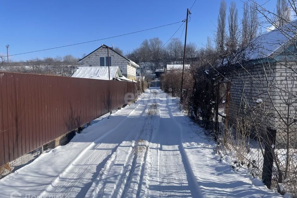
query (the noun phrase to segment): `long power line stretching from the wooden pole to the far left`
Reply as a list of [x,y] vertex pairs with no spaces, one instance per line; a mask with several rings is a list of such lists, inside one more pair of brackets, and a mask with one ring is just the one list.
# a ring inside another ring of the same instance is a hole
[[115,38],[115,37],[122,37],[122,36],[125,36],[125,35],[135,34],[135,33],[138,33],[138,32],[144,32],[144,31],[147,31],[147,30],[161,28],[161,27],[165,27],[165,26],[169,26],[169,25],[173,25],[173,24],[177,24],[177,23],[181,23],[181,22],[184,22],[184,21],[179,21],[179,22],[175,22],[175,23],[172,23],[172,24],[161,25],[161,26],[158,26],[158,27],[144,29],[144,30],[140,30],[140,31],[136,31],[136,32],[130,32],[130,33],[126,33],[126,34],[121,34],[121,35],[117,35],[117,36],[113,36],[113,37],[106,37],[106,38],[101,38],[101,39],[97,39],[97,40],[93,40],[93,41],[86,41],[86,42],[75,43],[75,44],[71,44],[71,45],[63,45],[63,46],[59,46],[59,47],[53,47],[53,48],[48,48],[48,49],[41,49],[41,50],[36,50],[36,51],[31,51],[31,52],[24,52],[24,53],[19,53],[19,54],[12,54],[12,55],[9,55],[9,56],[15,56],[15,55],[20,55],[20,54],[29,54],[29,53],[34,53],[34,52],[46,51],[46,50],[50,50],[50,49],[58,49],[58,48],[62,48],[62,47],[69,47],[69,46],[73,46],[73,45],[80,45],[80,44],[90,43],[90,42],[95,42],[95,41],[102,41],[102,40],[105,40],[105,39],[110,39],[110,38]]

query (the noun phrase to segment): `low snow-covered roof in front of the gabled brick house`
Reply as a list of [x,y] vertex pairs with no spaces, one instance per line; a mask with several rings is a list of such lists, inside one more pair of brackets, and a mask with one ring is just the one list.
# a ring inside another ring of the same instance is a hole
[[99,80],[120,80],[132,81],[122,75],[119,67],[109,67],[110,78],[108,78],[108,67],[78,67],[72,77],[75,78],[90,78]]

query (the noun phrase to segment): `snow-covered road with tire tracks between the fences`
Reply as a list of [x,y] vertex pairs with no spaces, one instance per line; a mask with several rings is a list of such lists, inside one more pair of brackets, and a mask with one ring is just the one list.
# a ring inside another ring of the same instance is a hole
[[69,144],[1,179],[0,197],[278,196],[244,168],[234,172],[219,161],[213,146],[176,99],[150,88]]

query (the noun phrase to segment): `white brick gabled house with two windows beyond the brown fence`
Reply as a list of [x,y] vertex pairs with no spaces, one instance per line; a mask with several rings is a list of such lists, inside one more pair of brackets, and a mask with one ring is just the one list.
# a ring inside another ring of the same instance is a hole
[[[107,45],[100,46],[78,62],[84,67],[108,67],[107,47]],[[136,80],[136,68],[139,66],[111,48],[109,48],[109,66],[119,67],[125,77]]]

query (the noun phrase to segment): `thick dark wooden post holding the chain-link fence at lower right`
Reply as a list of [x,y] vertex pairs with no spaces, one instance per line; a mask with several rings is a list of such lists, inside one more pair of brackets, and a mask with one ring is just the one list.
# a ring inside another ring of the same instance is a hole
[[273,171],[273,152],[275,148],[276,129],[267,128],[267,141],[265,142],[265,152],[262,170],[262,181],[270,189]]

